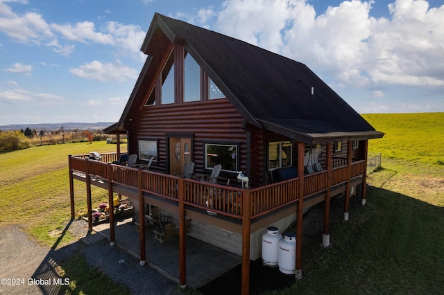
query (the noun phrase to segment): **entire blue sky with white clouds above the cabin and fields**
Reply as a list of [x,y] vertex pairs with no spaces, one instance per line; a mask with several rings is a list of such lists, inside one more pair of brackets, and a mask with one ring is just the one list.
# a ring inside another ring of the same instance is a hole
[[119,120],[155,12],[307,64],[361,114],[444,111],[442,0],[0,0],[0,125]]

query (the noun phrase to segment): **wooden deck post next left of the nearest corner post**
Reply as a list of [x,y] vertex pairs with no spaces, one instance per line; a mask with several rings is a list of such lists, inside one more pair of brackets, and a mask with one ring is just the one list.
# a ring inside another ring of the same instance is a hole
[[187,231],[185,229],[185,185],[182,177],[179,178],[179,267],[180,267],[180,287],[187,287]]

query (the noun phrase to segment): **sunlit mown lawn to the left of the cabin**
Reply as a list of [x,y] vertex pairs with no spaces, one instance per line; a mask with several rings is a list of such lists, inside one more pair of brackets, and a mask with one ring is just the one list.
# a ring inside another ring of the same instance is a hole
[[[68,155],[116,152],[105,141],[43,145],[0,154],[0,224],[21,224],[38,242],[52,246],[71,218]],[[85,185],[74,181],[76,209],[85,211]],[[108,193],[92,188],[94,202]],[[73,237],[67,233],[63,242]]]

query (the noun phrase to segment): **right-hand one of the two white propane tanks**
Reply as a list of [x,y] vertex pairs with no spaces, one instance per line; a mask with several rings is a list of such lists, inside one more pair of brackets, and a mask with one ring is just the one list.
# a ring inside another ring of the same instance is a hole
[[279,241],[278,251],[279,270],[284,274],[294,274],[296,271],[296,235],[286,233]]

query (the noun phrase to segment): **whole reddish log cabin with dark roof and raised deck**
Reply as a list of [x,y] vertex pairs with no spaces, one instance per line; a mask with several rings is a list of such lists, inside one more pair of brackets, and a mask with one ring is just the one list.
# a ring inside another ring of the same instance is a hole
[[[70,155],[71,213],[73,179],[108,189],[110,201],[112,193],[132,197],[140,220],[146,206],[139,204],[156,206],[179,224],[180,249],[189,234],[242,256],[244,294],[266,227],[283,231],[296,220],[300,278],[304,209],[325,202],[323,244],[329,245],[330,197],[345,194],[345,220],[357,188],[364,204],[368,140],[384,134],[305,64],[238,39],[156,13],[142,51],[146,62],[133,92],[105,133],[126,134],[128,154],[137,154],[139,163],[152,159],[151,166],[110,164],[120,155],[119,140],[117,153],[103,161]],[[178,176],[187,161],[195,163],[197,177]],[[216,183],[202,181],[217,164]],[[239,172],[248,182],[239,181]],[[185,285],[185,251],[181,255]]]

